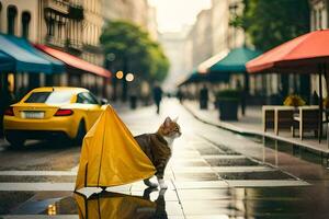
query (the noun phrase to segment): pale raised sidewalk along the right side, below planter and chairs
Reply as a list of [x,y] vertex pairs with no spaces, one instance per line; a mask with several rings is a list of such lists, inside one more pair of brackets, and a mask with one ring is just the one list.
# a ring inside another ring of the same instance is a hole
[[276,136],[273,130],[264,132],[262,130],[261,106],[247,107],[247,115],[242,117],[239,113],[238,122],[220,122],[218,118],[218,111],[214,107],[209,107],[209,110],[207,111],[201,111],[198,107],[198,103],[195,101],[184,101],[183,105],[190,113],[194,115],[194,117],[206,124],[214,125],[241,135],[266,137],[274,140],[296,145],[324,157],[328,157],[329,154],[329,147],[325,139],[321,141],[321,143],[319,143],[317,139],[305,139],[302,141],[299,140],[299,138],[293,138],[290,131],[281,131],[279,136]]

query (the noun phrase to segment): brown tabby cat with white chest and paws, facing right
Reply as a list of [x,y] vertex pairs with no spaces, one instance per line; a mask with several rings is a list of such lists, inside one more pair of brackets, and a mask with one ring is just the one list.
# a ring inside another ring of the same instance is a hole
[[[157,132],[143,134],[135,137],[140,149],[146,153],[146,155],[156,166],[156,176],[161,189],[167,188],[163,180],[163,174],[166,165],[171,157],[173,140],[181,135],[182,134],[180,130],[180,126],[177,124],[177,119],[171,120],[170,117],[167,117]],[[144,183],[149,187],[158,186],[157,183],[150,182],[149,178],[145,180]]]

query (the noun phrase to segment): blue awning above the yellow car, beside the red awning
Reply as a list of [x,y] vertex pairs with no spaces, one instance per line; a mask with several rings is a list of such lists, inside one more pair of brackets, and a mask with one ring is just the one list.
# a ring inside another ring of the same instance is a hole
[[0,59],[0,70],[2,71],[44,73],[61,73],[65,71],[65,65],[61,61],[35,49],[24,38],[0,34],[0,51],[14,59],[11,69],[2,69],[1,66],[8,66],[8,64],[5,59]]

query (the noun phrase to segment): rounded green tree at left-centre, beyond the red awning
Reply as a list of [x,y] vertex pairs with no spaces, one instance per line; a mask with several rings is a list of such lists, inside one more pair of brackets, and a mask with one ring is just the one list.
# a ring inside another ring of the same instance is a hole
[[[134,72],[139,79],[150,83],[163,81],[169,69],[169,61],[161,46],[151,41],[148,33],[140,26],[127,21],[107,22],[100,42],[105,57],[115,55],[114,65],[124,76]],[[127,99],[127,82],[123,82],[122,99]]]

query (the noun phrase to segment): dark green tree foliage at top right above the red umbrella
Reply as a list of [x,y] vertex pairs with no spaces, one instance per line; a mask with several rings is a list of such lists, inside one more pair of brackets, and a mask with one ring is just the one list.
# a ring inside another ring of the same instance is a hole
[[243,0],[245,9],[231,25],[242,27],[251,43],[269,50],[309,32],[308,0]]

